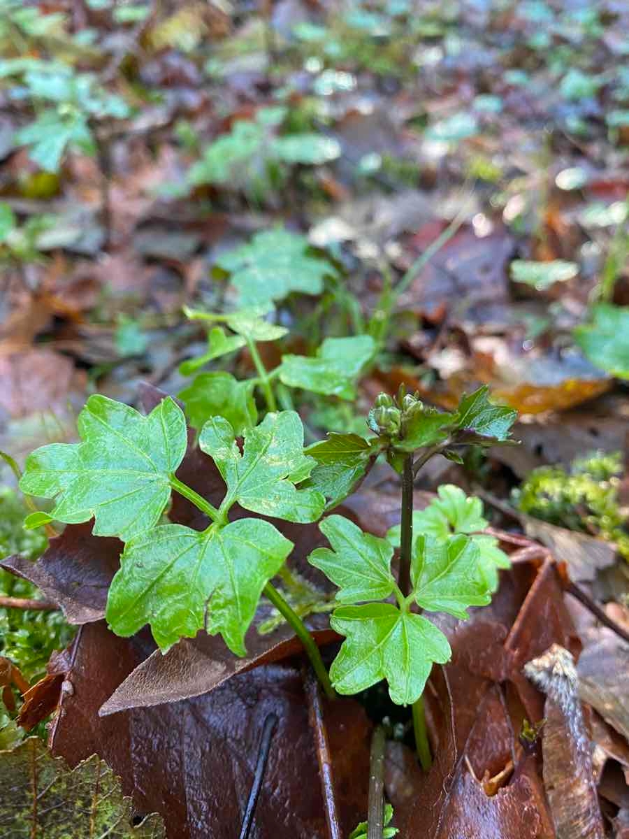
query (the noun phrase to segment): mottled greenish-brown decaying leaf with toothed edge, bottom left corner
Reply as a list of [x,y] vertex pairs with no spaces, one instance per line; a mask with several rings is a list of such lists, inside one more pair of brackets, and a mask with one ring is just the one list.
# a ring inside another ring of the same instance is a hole
[[0,752],[0,831],[3,836],[107,836],[164,839],[161,816],[138,816],[120,780],[96,754],[67,768],[39,737]]

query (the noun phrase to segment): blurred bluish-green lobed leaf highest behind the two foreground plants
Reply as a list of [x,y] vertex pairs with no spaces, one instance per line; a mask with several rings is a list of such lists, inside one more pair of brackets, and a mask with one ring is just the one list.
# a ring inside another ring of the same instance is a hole
[[216,264],[231,274],[245,305],[283,300],[291,292],[320,294],[325,276],[336,274],[325,259],[307,255],[308,239],[287,230],[258,233],[248,245],[223,253]]

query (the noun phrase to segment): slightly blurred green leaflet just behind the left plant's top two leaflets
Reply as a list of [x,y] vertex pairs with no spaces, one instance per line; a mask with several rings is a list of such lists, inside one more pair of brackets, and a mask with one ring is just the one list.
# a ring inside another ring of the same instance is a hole
[[203,428],[213,416],[225,417],[237,435],[256,425],[253,383],[247,380],[239,382],[231,373],[199,373],[178,396],[185,404],[190,425],[195,429]]

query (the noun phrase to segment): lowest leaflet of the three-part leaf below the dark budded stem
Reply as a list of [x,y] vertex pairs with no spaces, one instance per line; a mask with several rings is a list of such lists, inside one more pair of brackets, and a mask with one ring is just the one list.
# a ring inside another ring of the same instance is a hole
[[339,607],[330,625],[346,637],[330,667],[332,684],[343,695],[386,679],[392,701],[411,705],[422,695],[433,663],[450,659],[444,633],[390,603]]

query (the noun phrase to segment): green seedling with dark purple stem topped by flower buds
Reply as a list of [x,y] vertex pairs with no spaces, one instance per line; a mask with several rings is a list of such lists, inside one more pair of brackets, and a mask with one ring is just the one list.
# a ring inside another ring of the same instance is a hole
[[450,659],[450,646],[421,612],[467,618],[468,607],[490,602],[496,568],[506,565],[506,558],[494,541],[467,535],[483,529],[486,520],[481,503],[457,487],[441,488],[413,538],[414,476],[436,454],[460,460],[465,446],[512,442],[509,430],[516,416],[510,408],[491,404],[486,387],[464,395],[452,413],[430,409],[401,389],[397,399],[380,394],[370,411],[368,424],[377,440],[361,444],[357,435],[334,435],[308,450],[320,464],[310,483],[335,501],[360,480],[374,452],[385,452],[392,467],[402,472],[401,524],[392,534],[401,546],[397,579],[391,570],[391,542],[362,533],[338,515],[320,524],[330,549],[314,550],[309,561],[338,589],[339,606],[330,624],[346,640],[330,667],[335,689],[354,694],[387,680],[393,702],[413,705],[424,768],[430,753],[421,697],[434,662]]

